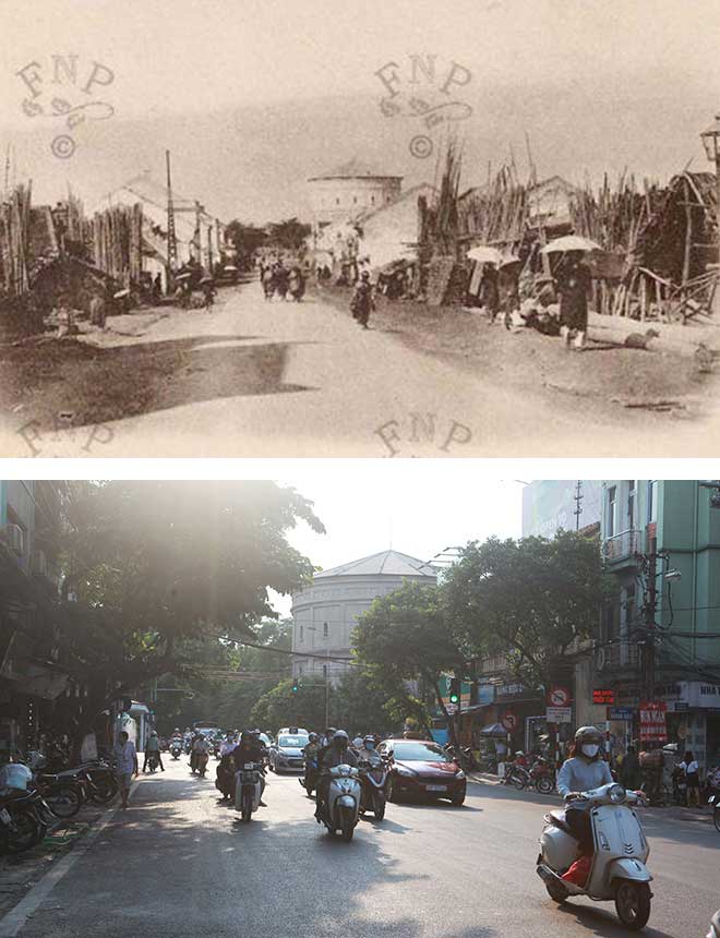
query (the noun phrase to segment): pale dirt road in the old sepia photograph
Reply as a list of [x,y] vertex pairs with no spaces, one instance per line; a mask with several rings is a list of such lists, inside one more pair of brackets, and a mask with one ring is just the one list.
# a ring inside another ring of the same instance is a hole
[[[212,315],[172,310],[143,335],[99,340],[109,350],[155,349],[158,374],[161,357],[175,354],[177,371],[147,395],[142,413],[97,430],[32,433],[28,443],[20,431],[33,414],[24,408],[10,416],[4,455],[598,457],[658,446],[652,420],[623,428],[610,413],[589,419],[587,408],[579,419],[575,400],[539,409],[532,387],[509,388],[497,372],[410,349],[387,328],[363,332],[348,313],[312,299],[267,303],[257,282],[223,290]],[[259,388],[249,374],[260,365]],[[132,396],[132,382],[131,365],[118,398]],[[665,455],[717,452],[695,424],[672,431]]]

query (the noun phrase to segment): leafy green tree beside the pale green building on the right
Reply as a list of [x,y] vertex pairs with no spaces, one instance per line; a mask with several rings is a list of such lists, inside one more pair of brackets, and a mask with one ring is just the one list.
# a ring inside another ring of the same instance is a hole
[[607,594],[597,537],[470,542],[442,585],[443,606],[473,657],[505,654],[529,687],[547,686],[597,628]]

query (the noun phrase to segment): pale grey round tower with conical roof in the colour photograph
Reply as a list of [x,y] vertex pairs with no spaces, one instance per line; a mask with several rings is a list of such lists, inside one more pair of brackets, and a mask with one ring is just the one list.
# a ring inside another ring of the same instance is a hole
[[407,580],[434,585],[437,570],[408,554],[383,551],[315,574],[312,586],[292,597],[292,676],[327,673],[338,681],[350,666],[338,659],[351,657],[358,617]]

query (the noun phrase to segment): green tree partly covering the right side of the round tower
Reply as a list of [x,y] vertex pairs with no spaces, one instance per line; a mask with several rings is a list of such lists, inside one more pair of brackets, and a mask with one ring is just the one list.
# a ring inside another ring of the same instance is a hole
[[417,719],[428,731],[429,714],[421,697],[410,689],[418,680],[432,694],[447,718],[440,677],[445,671],[463,673],[465,656],[448,628],[437,587],[406,582],[376,599],[358,623],[355,650],[373,680],[388,689],[389,712]]

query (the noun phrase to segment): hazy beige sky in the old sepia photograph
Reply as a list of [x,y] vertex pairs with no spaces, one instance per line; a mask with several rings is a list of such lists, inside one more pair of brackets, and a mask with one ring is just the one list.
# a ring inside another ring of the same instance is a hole
[[[399,170],[422,181],[432,160],[408,158],[407,119],[388,122],[376,106],[377,70],[396,62],[407,89],[413,53],[435,57],[439,81],[453,62],[472,75],[463,89],[472,182],[511,147],[524,170],[526,132],[541,176],[705,168],[698,133],[720,105],[719,0],[0,0],[0,159],[12,143],[17,181],[32,177],[44,201],[70,183],[94,206],[145,168],[161,177],[166,146],[179,191],[225,219],[301,214],[308,175],[349,149],[404,156]],[[75,86],[55,84],[52,57],[72,55]],[[84,92],[98,65],[111,83]],[[22,110],[21,70],[40,116]],[[111,121],[85,115],[70,158],[49,149],[55,96],[115,109]],[[283,110],[320,100],[319,111]]]

